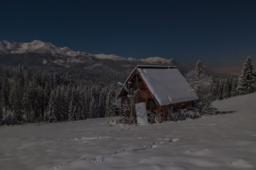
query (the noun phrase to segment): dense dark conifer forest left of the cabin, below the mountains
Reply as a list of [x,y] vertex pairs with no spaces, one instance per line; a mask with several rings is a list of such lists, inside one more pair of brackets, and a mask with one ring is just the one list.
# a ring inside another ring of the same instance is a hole
[[126,72],[1,67],[0,124],[61,122],[105,117]]

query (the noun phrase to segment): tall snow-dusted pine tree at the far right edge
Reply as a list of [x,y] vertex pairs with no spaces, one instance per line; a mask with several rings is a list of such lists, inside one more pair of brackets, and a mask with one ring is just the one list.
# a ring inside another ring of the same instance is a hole
[[239,75],[237,92],[238,95],[251,94],[256,91],[256,71],[252,64],[252,58],[247,57],[242,72]]

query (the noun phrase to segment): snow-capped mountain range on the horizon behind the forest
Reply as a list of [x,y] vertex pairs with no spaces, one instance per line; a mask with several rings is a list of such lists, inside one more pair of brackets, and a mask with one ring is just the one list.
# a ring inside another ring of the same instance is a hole
[[[125,58],[114,54],[90,54],[75,52],[68,47],[57,47],[52,43],[34,40],[31,43],[10,43],[0,41],[0,64],[41,66],[41,67],[68,67],[79,69],[100,68],[111,71],[133,69],[134,58]],[[147,65],[179,65],[172,59],[149,57],[137,60],[137,64]],[[191,65],[190,65],[191,66]],[[180,69],[187,69],[183,65]]]

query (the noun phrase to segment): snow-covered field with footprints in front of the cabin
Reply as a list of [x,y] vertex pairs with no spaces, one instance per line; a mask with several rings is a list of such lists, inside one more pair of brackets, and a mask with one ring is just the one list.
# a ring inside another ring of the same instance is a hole
[[0,169],[256,169],[256,93],[226,114],[149,125],[108,118],[0,127]]

